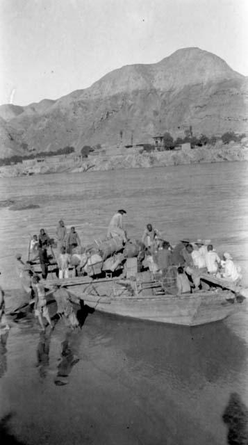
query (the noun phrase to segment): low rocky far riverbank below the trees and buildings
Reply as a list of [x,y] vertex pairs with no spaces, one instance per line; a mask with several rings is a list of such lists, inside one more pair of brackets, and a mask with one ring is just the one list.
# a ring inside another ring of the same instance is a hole
[[[111,150],[112,151],[112,150]],[[113,151],[112,151],[113,153]],[[58,163],[49,163],[49,158],[43,163],[35,159],[30,165],[18,163],[0,168],[0,177],[21,177],[29,175],[48,175],[61,172],[87,172],[117,170],[124,168],[152,168],[169,165],[186,165],[194,163],[217,163],[225,161],[248,161],[248,138],[240,143],[231,142],[228,145],[217,143],[186,150],[169,150],[163,152],[142,152],[137,149],[122,149],[119,154],[108,154],[108,149],[88,158],[74,160],[60,159]]]

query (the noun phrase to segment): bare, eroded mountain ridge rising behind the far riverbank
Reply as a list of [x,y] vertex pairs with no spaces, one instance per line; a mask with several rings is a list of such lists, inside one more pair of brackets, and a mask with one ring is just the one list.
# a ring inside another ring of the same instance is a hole
[[[5,113],[18,146],[37,152],[66,145],[80,150],[86,144],[151,142],[165,131],[183,136],[190,126],[197,135],[243,133],[247,92],[247,77],[224,60],[185,48],[158,63],[126,65],[56,101],[15,106],[15,112],[8,106],[8,113],[1,106],[0,115],[4,119]],[[6,156],[4,144],[0,156]]]

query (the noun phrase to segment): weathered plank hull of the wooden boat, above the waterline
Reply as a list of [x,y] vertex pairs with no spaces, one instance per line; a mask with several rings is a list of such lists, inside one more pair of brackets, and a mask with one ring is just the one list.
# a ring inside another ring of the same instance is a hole
[[196,326],[238,312],[242,305],[229,291],[199,291],[181,296],[110,296],[83,292],[81,286],[69,286],[74,301],[83,300],[100,312],[175,325]]

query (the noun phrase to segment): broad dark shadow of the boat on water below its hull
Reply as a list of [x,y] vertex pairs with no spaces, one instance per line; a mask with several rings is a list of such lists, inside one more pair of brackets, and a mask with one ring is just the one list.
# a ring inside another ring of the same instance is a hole
[[122,320],[115,325],[114,336],[113,326],[114,319],[109,316],[106,334],[109,330],[112,341],[118,342],[135,368],[141,366],[142,373],[167,375],[179,385],[194,388],[202,385],[203,378],[208,383],[226,382],[245,366],[247,346],[222,321],[180,327]]

